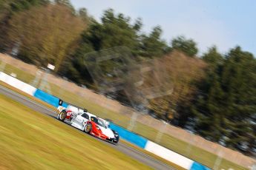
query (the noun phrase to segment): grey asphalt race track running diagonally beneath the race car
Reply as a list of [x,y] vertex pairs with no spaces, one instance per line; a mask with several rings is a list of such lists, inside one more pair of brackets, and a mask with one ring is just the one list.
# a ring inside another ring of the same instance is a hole
[[[25,97],[24,95],[20,95],[17,92],[13,92],[13,90],[7,89],[4,86],[0,86],[0,93],[8,96],[9,98],[12,98],[15,101],[19,101],[19,103],[22,103],[25,106],[30,107],[31,109],[35,110],[36,112],[41,112],[42,114],[49,115],[50,117],[56,119],[55,111],[47,108],[46,106],[42,106],[41,104],[37,103],[36,101],[30,100],[29,98]],[[67,124],[67,126],[68,126],[68,124]],[[70,126],[70,128],[73,128],[73,127]],[[79,129],[75,129],[75,128],[73,128],[73,129],[79,131]],[[83,133],[82,131],[80,131],[80,132]],[[96,137],[93,137],[93,138],[95,138],[95,140],[99,140]],[[113,147],[114,149],[118,150],[119,152],[127,154],[128,156],[134,158],[135,160],[138,160],[141,163],[144,163],[145,165],[150,166],[153,169],[161,169],[161,170],[174,169],[171,166],[168,166],[165,163],[160,162],[160,160],[156,160],[156,159],[154,159],[154,157],[148,156],[147,154],[144,154],[134,148],[131,148],[130,146],[125,145],[124,143],[119,142],[118,145],[114,145],[111,143],[107,143],[105,141],[102,141],[102,142],[107,144],[110,147]]]

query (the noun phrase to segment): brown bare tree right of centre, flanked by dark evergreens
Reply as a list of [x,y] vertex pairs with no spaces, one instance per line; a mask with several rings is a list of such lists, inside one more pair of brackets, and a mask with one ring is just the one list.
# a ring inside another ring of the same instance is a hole
[[[152,98],[149,102],[150,108],[161,118],[171,120],[176,116],[179,117],[177,106],[180,104],[188,106],[188,103],[191,102],[194,92],[197,91],[195,83],[203,78],[206,64],[200,58],[190,58],[181,52],[174,51],[157,60],[154,67],[157,67],[155,74],[159,81],[171,81],[172,92],[170,95]],[[163,68],[165,68],[166,74],[163,74]],[[151,75],[149,76],[151,77]],[[155,81],[155,79],[151,79],[151,84],[155,84]],[[170,89],[170,86],[161,86],[160,88]]]

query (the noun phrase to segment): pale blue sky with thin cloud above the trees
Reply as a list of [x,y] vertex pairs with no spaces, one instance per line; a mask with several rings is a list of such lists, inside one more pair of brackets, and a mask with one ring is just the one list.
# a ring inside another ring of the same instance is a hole
[[100,21],[104,10],[142,18],[142,31],[160,25],[168,43],[178,35],[197,42],[200,54],[216,45],[222,53],[240,45],[256,56],[255,0],[70,0]]

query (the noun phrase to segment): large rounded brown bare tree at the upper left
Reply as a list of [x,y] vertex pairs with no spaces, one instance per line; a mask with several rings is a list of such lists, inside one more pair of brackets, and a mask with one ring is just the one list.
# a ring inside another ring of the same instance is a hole
[[11,47],[19,47],[19,55],[25,61],[37,65],[54,64],[58,71],[85,25],[70,8],[49,4],[13,16],[8,36]]

